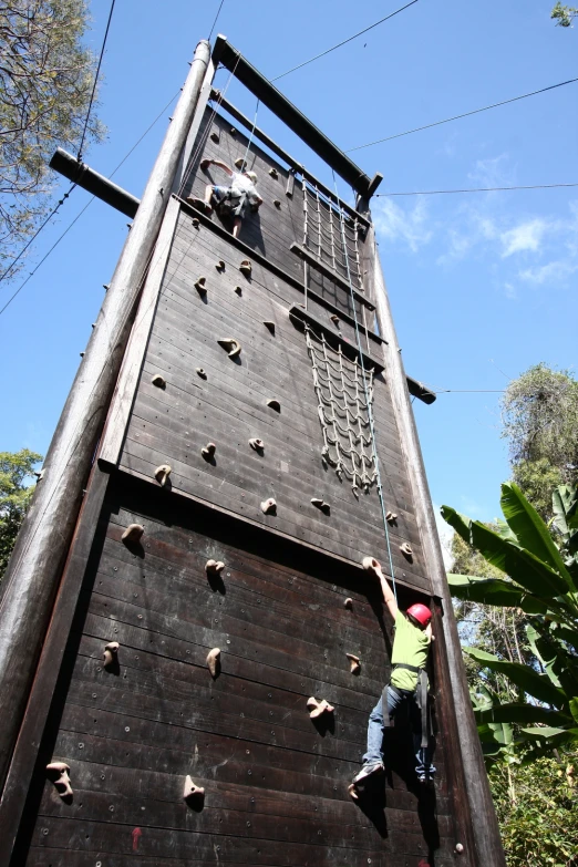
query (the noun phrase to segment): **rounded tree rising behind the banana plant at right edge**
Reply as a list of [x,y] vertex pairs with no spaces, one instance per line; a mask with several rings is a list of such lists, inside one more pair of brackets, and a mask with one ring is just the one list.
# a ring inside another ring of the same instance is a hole
[[578,483],[578,382],[536,364],[509,383],[502,419],[514,482],[547,520],[551,491]]

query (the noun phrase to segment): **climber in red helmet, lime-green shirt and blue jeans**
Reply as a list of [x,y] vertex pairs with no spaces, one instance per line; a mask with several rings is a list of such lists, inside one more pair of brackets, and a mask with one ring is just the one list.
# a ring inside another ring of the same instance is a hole
[[363,766],[349,786],[349,794],[354,801],[359,798],[360,785],[368,777],[383,773],[385,729],[389,727],[390,720],[404,706],[409,711],[412,726],[417,780],[420,783],[427,783],[435,775],[435,767],[432,764],[433,741],[430,737],[427,721],[427,675],[425,673],[431,642],[434,639],[432,613],[421,602],[410,606],[405,612],[400,611],[380,562],[368,557],[363,565],[380,579],[383,599],[395,623],[395,638],[391,653],[391,680],[370,714],[368,750],[362,760]]

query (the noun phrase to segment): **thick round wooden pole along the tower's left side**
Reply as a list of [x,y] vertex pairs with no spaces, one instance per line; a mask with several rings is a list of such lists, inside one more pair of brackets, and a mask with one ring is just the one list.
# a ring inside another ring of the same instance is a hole
[[198,43],[17,539],[0,606],[0,785],[6,780],[94,453],[134,319],[143,278],[177,171],[210,45]]

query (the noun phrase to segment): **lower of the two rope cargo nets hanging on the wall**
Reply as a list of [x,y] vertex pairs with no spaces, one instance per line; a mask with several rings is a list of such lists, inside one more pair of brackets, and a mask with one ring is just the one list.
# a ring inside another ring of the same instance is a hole
[[[313,384],[323,433],[321,456],[334,467],[339,479],[347,476],[355,496],[368,492],[378,477],[371,437],[369,406],[373,402],[373,369],[334,350],[306,323],[307,349],[313,368]],[[363,375],[365,383],[363,383]]]

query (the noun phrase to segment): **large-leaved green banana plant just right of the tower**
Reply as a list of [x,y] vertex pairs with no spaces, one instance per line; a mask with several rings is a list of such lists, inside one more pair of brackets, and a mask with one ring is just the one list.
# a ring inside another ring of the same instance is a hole
[[[442,508],[465,547],[460,566],[472,565],[468,543],[493,570],[448,576],[462,606],[489,607],[477,623],[475,647],[465,650],[479,667],[471,684],[491,762],[527,761],[578,742],[578,488],[554,493],[556,538],[513,483],[502,486],[502,509],[506,524],[493,528]],[[512,612],[509,634],[504,623],[495,629],[492,612],[500,609]]]

